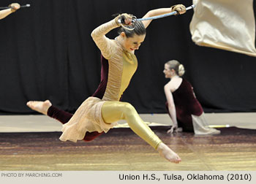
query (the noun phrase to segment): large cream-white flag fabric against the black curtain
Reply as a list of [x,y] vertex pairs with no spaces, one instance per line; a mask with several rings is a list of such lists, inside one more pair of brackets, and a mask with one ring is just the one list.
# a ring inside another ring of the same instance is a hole
[[193,0],[193,4],[193,42],[256,57],[253,0]]

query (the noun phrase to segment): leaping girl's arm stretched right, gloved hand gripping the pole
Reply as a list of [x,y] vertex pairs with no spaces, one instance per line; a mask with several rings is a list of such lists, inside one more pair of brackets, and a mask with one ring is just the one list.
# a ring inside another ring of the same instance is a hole
[[[174,5],[170,8],[159,8],[159,9],[152,9],[149,12],[146,13],[146,15],[143,16],[143,18],[151,18],[157,15],[164,15],[170,12],[176,11],[179,14],[184,14],[186,12],[186,7],[182,4]],[[149,26],[152,20],[143,20],[143,24],[145,28]]]

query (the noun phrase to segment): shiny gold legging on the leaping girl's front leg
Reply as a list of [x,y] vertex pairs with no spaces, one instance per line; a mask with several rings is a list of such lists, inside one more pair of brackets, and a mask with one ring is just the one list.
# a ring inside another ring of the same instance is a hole
[[154,149],[157,149],[159,143],[162,142],[140,118],[135,108],[127,102],[105,101],[102,105],[102,118],[105,123],[127,120],[132,131],[148,142],[148,144],[154,147]]

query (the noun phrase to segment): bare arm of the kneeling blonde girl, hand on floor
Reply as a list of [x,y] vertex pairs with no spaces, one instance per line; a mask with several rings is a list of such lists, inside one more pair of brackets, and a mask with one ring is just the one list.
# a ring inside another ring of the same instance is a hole
[[173,133],[175,129],[178,129],[178,123],[176,118],[176,108],[173,101],[173,94],[170,91],[170,84],[165,85],[165,96],[168,103],[168,111],[170,113],[170,118],[173,120],[173,126],[170,129],[170,131],[168,131],[168,133]]

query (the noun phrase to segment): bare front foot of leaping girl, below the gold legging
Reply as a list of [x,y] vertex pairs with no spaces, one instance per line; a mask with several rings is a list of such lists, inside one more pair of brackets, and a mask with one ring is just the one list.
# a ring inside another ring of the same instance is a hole
[[160,156],[167,159],[167,161],[173,162],[178,164],[181,161],[181,158],[170,149],[170,147],[167,147],[164,143],[160,143],[157,147],[157,151],[159,152]]

